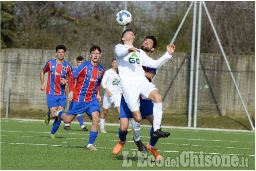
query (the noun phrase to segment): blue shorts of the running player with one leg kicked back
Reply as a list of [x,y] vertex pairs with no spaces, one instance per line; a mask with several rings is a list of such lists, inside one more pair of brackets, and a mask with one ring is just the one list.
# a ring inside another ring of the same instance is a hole
[[96,98],[89,102],[72,101],[69,110],[67,111],[67,115],[79,115],[85,112],[88,117],[92,119],[91,113],[94,111],[100,112],[99,101]]

